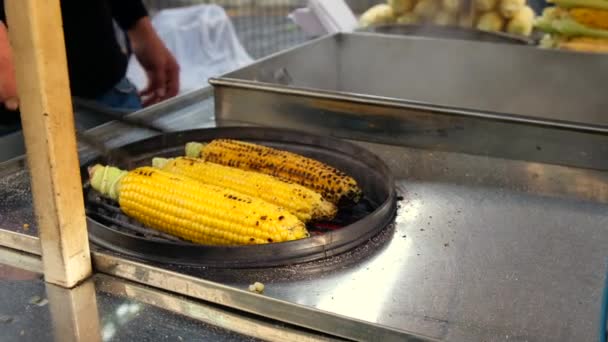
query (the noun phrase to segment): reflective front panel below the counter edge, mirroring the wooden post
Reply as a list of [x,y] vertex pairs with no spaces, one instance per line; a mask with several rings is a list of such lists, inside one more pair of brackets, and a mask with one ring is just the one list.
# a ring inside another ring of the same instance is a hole
[[96,274],[42,280],[40,257],[0,248],[0,325],[10,341],[341,341]]

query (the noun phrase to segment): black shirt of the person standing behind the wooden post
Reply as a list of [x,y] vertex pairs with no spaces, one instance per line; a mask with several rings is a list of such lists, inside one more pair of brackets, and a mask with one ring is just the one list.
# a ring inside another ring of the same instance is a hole
[[[72,95],[95,98],[127,70],[113,21],[129,30],[148,13],[141,0],[60,0]],[[0,20],[6,23],[4,0]],[[10,30],[10,28],[9,28]]]

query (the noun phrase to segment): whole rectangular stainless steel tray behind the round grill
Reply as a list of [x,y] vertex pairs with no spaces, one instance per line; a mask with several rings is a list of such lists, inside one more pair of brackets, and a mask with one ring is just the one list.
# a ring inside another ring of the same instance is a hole
[[605,170],[604,70],[599,55],[351,33],[210,83],[219,125]]

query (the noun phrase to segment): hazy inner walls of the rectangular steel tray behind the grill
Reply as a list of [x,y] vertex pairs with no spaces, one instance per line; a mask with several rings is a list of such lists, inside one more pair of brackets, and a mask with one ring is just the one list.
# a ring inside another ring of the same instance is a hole
[[602,85],[607,67],[608,60],[596,54],[344,33],[262,59],[220,79],[280,85],[278,79],[260,75],[285,69],[291,76],[289,88],[606,127]]

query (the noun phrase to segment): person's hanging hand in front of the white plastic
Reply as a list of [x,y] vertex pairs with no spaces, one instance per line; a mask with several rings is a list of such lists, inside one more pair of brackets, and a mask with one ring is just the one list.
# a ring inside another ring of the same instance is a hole
[[148,85],[141,92],[143,105],[149,106],[177,95],[179,65],[145,17],[129,31],[133,53],[146,71]]

